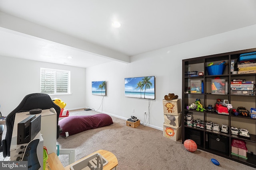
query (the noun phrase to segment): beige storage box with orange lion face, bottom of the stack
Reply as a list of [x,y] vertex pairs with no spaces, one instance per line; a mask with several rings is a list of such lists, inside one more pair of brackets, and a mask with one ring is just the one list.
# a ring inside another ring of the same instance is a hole
[[172,139],[173,141],[178,141],[181,137],[181,127],[173,128],[164,125],[163,136]]

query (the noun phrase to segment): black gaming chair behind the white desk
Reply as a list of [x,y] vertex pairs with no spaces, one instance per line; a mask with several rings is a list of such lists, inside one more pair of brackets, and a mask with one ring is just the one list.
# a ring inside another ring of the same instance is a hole
[[[4,158],[10,156],[10,145],[12,139],[12,131],[14,127],[15,114],[20,112],[30,111],[31,109],[50,109],[54,108],[57,113],[57,139],[60,135],[60,126],[58,125],[58,120],[60,116],[60,107],[56,105],[48,94],[44,93],[34,93],[28,94],[20,102],[19,106],[16,107],[10,114],[6,116],[6,136],[2,140],[2,146],[0,147],[0,152],[3,152]],[[1,127],[0,127],[1,131]],[[1,135],[1,134],[0,134]],[[2,139],[2,138],[0,138]]]

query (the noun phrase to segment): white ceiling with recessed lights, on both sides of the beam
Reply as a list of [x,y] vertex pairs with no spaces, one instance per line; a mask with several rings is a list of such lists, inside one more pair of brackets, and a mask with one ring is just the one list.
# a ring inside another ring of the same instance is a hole
[[[255,9],[256,0],[0,0],[0,12],[126,56],[254,25]],[[122,61],[4,25],[0,21],[3,56],[85,68]]]

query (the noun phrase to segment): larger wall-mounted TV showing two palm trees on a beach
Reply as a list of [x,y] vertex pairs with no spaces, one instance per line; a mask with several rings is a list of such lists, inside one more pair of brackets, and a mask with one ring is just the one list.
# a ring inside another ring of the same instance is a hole
[[155,76],[124,78],[125,97],[155,99]]

